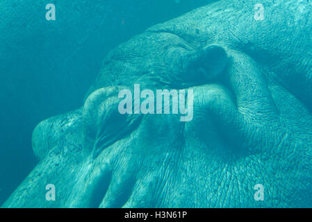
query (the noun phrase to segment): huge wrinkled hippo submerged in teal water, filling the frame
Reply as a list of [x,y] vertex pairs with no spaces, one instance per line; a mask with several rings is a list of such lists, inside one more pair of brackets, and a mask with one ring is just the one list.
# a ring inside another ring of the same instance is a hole
[[[312,5],[262,1],[256,21],[258,1],[239,2],[112,51],[83,108],[37,126],[41,161],[3,207],[312,207]],[[119,114],[134,83],[193,89],[194,118]]]

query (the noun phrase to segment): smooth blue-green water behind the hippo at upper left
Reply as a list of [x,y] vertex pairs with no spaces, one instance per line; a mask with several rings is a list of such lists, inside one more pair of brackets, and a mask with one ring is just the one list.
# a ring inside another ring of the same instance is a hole
[[[209,0],[1,0],[0,205],[35,167],[31,135],[79,108],[111,49]],[[45,18],[55,4],[56,21]]]

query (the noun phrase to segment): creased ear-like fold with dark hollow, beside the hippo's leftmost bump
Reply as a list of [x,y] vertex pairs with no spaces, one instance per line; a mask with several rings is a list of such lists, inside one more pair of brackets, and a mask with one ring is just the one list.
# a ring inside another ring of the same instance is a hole
[[[139,125],[141,116],[120,112],[120,92],[129,89],[122,86],[97,89],[88,96],[83,106],[85,149],[88,155],[96,157],[106,147],[133,132]],[[132,97],[126,99],[132,110]],[[122,110],[124,111],[124,110]]]

